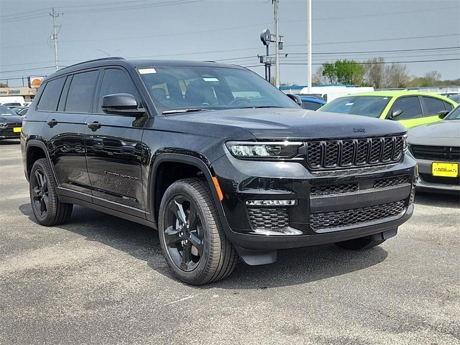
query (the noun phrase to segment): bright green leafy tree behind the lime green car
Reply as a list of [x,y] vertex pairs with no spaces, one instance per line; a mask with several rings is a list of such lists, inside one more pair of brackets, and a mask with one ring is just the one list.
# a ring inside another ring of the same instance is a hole
[[326,77],[331,84],[354,84],[360,85],[366,73],[363,65],[355,60],[337,60],[335,63],[323,64],[322,75]]

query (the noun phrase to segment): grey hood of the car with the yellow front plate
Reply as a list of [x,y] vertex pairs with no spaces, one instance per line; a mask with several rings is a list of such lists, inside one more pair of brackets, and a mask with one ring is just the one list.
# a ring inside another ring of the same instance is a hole
[[411,128],[407,141],[413,145],[460,146],[460,120],[442,120]]

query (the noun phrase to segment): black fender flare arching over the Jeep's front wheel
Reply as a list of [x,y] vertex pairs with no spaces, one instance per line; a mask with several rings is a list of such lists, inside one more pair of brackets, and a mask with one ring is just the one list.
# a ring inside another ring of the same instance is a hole
[[147,186],[147,200],[148,200],[148,205],[150,206],[149,207],[150,213],[149,213],[149,216],[147,216],[148,218],[150,218],[149,220],[153,221],[154,223],[157,223],[157,219],[155,216],[156,205],[155,205],[154,191],[156,189],[155,183],[156,183],[159,167],[164,162],[184,163],[184,164],[194,166],[198,168],[199,170],[201,170],[201,172],[204,174],[204,177],[206,178],[206,181],[209,185],[209,189],[211,190],[212,196],[214,198],[217,215],[219,217],[225,216],[224,209],[222,207],[222,203],[220,202],[216,188],[214,187],[214,182],[212,180],[212,177],[215,176],[215,173],[212,167],[210,167],[210,165],[209,166],[206,165],[206,163],[203,162],[203,160],[199,159],[198,157],[179,154],[179,153],[162,153],[155,158],[154,163],[149,173],[149,180],[148,180],[149,183]]

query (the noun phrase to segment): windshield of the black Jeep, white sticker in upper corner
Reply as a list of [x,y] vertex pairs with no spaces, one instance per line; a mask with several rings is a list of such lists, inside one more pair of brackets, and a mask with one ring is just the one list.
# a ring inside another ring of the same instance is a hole
[[159,113],[176,109],[297,108],[254,72],[236,68],[168,66],[140,68]]

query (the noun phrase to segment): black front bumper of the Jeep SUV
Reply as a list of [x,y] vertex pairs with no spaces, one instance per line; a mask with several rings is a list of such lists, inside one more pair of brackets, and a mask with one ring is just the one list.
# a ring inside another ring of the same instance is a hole
[[[224,194],[221,222],[237,248],[276,250],[367,237],[396,230],[413,212],[415,161],[407,155],[403,162],[389,166],[320,173],[310,173],[295,162],[241,161],[229,155],[214,162],[213,168]],[[401,184],[375,187],[377,181],[400,176],[406,178]],[[334,190],[337,185],[347,189]],[[358,187],[351,190],[351,185]],[[323,186],[333,192],[312,195],[314,188]],[[266,228],[255,227],[246,201],[286,199],[296,200],[295,206],[287,207],[288,226],[259,231]],[[381,205],[397,205],[398,209],[382,213]],[[361,217],[361,210],[366,217]]]

